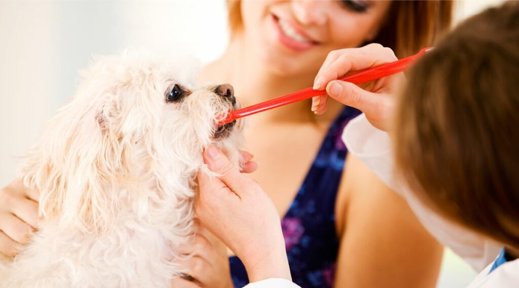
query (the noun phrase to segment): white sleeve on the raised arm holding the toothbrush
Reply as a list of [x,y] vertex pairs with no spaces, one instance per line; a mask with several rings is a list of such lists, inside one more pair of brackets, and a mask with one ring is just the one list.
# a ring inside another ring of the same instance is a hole
[[342,137],[349,153],[365,163],[389,188],[402,195],[422,225],[444,246],[464,258],[477,271],[494,261],[502,248],[500,244],[486,240],[428,209],[404,181],[394,177],[390,138],[386,132],[371,125],[364,114],[348,123]]

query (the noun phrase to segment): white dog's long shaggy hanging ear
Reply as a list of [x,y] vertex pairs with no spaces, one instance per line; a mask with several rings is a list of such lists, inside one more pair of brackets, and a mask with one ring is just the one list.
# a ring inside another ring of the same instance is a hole
[[85,103],[74,99],[47,123],[21,175],[40,191],[44,221],[102,234],[113,224],[118,185],[137,166],[136,153],[131,139],[112,129],[115,103],[101,109],[85,109]]

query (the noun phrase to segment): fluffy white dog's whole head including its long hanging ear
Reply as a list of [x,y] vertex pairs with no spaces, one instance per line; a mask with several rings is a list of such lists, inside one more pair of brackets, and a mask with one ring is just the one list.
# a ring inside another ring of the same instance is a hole
[[[123,197],[112,190],[130,191],[127,202],[170,197],[173,206],[185,207],[205,147],[220,146],[238,164],[236,123],[217,124],[237,106],[233,88],[196,87],[187,65],[123,55],[83,73],[76,95],[49,121],[22,169],[26,183],[41,191],[45,217],[99,230],[113,218],[110,203]],[[153,206],[135,202],[139,211]]]

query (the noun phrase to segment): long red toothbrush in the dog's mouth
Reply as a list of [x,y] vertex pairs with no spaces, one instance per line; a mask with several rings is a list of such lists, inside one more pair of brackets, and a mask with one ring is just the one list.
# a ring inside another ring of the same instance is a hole
[[[411,65],[415,60],[417,60],[420,56],[426,54],[428,51],[430,51],[432,48],[424,48],[420,50],[417,54],[414,54],[412,56],[408,56],[405,58],[402,58],[400,60],[382,64],[373,68],[369,68],[363,71],[360,71],[355,74],[348,75],[344,78],[340,78],[339,80],[348,81],[354,84],[360,84],[367,81],[383,78],[389,75],[397,74],[405,70],[409,65]],[[270,99],[268,101],[265,101],[263,103],[258,103],[256,105],[252,105],[249,107],[245,107],[242,109],[238,109],[235,111],[229,111],[227,113],[227,116],[220,120],[220,124],[226,124],[233,122],[234,120],[238,118],[242,118],[245,116],[249,116],[258,112],[270,110],[276,107],[284,106],[287,104],[291,104],[294,102],[298,102],[301,100],[309,99],[313,96],[319,96],[322,95],[324,91],[322,90],[313,90],[311,87],[303,90],[299,90],[281,97],[277,97],[274,99]]]

